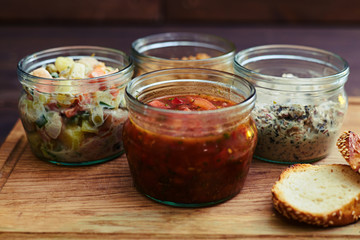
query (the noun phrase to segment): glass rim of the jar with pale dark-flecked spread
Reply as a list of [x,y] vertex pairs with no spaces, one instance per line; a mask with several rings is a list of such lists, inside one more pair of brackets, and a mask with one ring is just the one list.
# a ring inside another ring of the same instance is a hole
[[[339,71],[337,71],[337,73],[327,75],[327,76],[297,77],[297,79],[299,79],[301,81],[299,81],[298,83],[291,82],[291,85],[304,85],[304,84],[318,85],[318,84],[324,84],[324,83],[331,83],[334,80],[340,79],[349,74],[349,64],[341,56],[339,56],[335,53],[332,53],[330,51],[320,49],[320,48],[308,47],[308,46],[302,46],[302,45],[291,45],[291,44],[269,44],[269,45],[261,45],[261,46],[256,46],[256,47],[251,47],[251,48],[241,50],[238,53],[236,53],[236,55],[234,57],[234,65],[235,65],[234,67],[235,67],[235,69],[238,68],[238,70],[244,71],[248,74],[251,74],[252,76],[258,76],[260,78],[260,79],[256,79],[256,80],[260,80],[260,81],[264,81],[264,82],[271,81],[272,83],[276,83],[276,84],[289,85],[289,83],[286,81],[289,79],[287,77],[277,77],[277,76],[259,73],[257,71],[254,71],[254,70],[244,67],[243,62],[241,62],[241,63],[239,62],[240,58],[244,58],[246,60],[251,59],[251,57],[249,57],[249,54],[264,52],[265,53],[264,55],[266,55],[266,53],[270,53],[271,51],[276,51],[276,50],[280,50],[280,51],[282,51],[282,50],[291,51],[292,50],[292,51],[297,51],[297,52],[302,51],[302,52],[308,53],[308,54],[315,53],[315,54],[323,54],[324,56],[332,56],[335,59],[339,60],[339,63],[341,63],[343,66],[343,68],[340,69]],[[286,55],[286,54],[283,54],[283,55]],[[292,55],[295,55],[295,54],[292,54]],[[292,59],[294,59],[294,58],[292,58]],[[314,57],[314,59],[316,59],[316,58]],[[333,64],[329,64],[329,66],[333,66]]]

